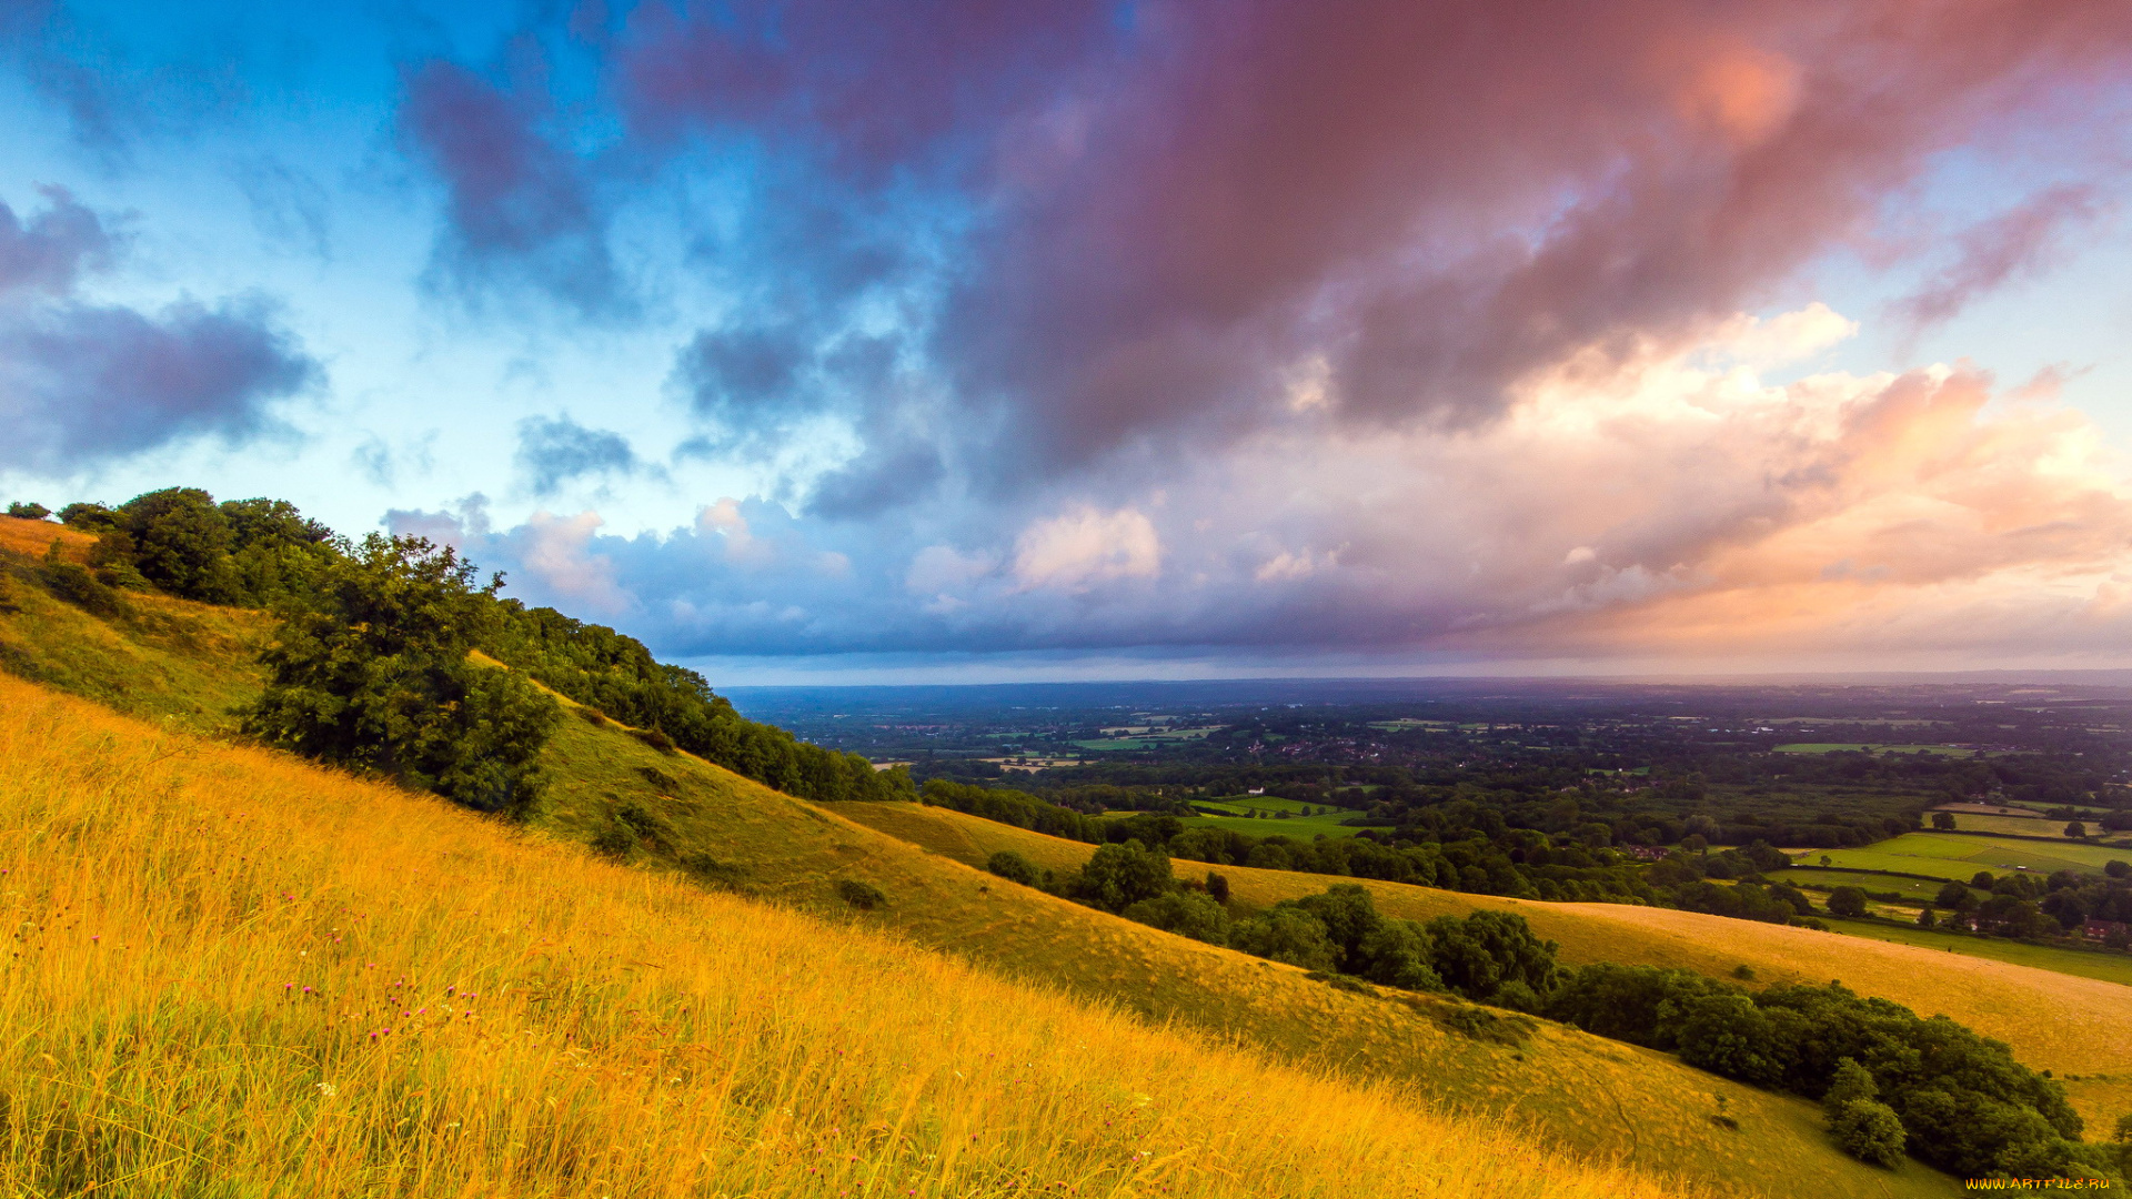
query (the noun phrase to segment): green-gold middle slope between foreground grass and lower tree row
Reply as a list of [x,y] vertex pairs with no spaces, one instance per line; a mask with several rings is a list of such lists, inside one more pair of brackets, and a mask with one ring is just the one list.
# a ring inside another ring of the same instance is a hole
[[[1414,1084],[1437,1103],[1512,1116],[1601,1161],[1627,1158],[1746,1195],[1953,1190],[1915,1163],[1891,1173],[1842,1156],[1810,1103],[1546,1022],[1524,1045],[1475,1041],[1443,1026],[1463,1007],[1456,1001],[1341,992],[1294,966],[1019,888],[844,819],[853,804],[806,804],[689,755],[652,753],[612,725],[565,721],[550,764],[554,789],[539,824],[563,836],[588,841],[620,804],[640,804],[661,824],[652,834],[663,843],[659,858],[695,860],[727,885],[844,911],[834,883],[859,879],[887,894],[885,907],[859,920],[923,945],[1311,1069]],[[1740,1129],[1716,1124],[1718,1114]]]

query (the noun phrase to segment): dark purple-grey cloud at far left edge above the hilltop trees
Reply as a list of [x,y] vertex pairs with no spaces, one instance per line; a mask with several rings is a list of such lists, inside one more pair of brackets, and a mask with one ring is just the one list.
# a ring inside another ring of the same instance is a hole
[[183,437],[243,439],[320,367],[262,299],[158,314],[85,303],[107,222],[62,190],[21,220],[0,203],[0,467],[64,471]]

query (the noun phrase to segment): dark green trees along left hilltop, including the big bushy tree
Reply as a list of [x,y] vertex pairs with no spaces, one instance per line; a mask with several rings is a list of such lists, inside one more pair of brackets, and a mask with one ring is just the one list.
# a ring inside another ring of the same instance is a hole
[[[17,506],[28,516],[30,506]],[[38,510],[28,518],[43,518]],[[87,565],[45,563],[51,589],[115,612],[124,591],[269,608],[279,617],[264,696],[245,728],[292,751],[392,774],[467,806],[524,813],[559,706],[535,683],[810,800],[908,798],[898,770],[806,745],[740,717],[704,676],[652,659],[614,629],[499,595],[450,546],[379,533],[350,542],[281,499],[215,499],[190,486],[58,518],[96,535]],[[486,655],[510,670],[480,664]]]

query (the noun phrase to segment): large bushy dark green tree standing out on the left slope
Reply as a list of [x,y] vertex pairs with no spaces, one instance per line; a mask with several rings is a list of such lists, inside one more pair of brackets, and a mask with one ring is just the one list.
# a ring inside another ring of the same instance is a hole
[[475,587],[473,563],[450,546],[371,533],[322,572],[316,608],[284,612],[247,730],[471,809],[524,813],[561,708],[467,657],[497,587],[501,576]]

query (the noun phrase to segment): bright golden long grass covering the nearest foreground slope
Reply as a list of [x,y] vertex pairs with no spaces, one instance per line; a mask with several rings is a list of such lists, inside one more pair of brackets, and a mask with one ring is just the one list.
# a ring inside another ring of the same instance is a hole
[[13,678],[0,710],[9,1193],[1699,1195]]

